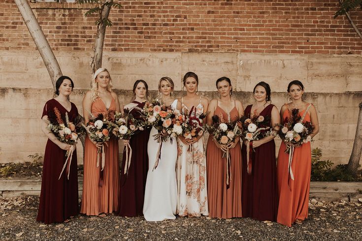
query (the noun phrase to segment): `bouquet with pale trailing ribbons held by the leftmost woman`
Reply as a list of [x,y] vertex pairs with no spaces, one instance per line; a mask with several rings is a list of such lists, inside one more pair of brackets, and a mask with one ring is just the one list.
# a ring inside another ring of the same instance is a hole
[[[67,178],[69,179],[69,168],[71,158],[73,155],[73,145],[77,143],[80,135],[84,134],[84,128],[82,126],[83,119],[77,116],[73,122],[69,121],[68,113],[62,116],[57,107],[54,107],[53,112],[48,114],[48,126],[47,129],[51,131],[59,141],[71,145],[71,149],[66,151],[66,162],[63,166],[63,170],[59,176],[61,178],[66,167]],[[58,179],[58,180],[59,180]]]

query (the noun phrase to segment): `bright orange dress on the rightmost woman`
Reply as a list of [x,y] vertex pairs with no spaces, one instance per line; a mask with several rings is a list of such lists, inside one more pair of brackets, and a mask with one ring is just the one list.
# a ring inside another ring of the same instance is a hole
[[[302,116],[304,111],[299,112]],[[283,119],[289,115],[289,110],[283,113]],[[305,121],[310,121],[307,113]],[[310,172],[312,165],[310,142],[304,143],[301,147],[294,150],[292,160],[292,171],[294,181],[290,179],[288,184],[288,158],[289,154],[285,153],[286,146],[282,142],[277,165],[278,192],[279,192],[279,208],[277,222],[289,227],[296,219],[304,220],[308,217],[308,201],[309,201],[309,184]]]

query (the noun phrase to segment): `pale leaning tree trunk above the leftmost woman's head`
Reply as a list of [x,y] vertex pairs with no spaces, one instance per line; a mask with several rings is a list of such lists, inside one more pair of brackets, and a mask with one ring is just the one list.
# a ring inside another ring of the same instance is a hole
[[46,37],[41,30],[38,21],[35,18],[33,10],[27,0],[15,0],[18,6],[19,12],[24,19],[25,24],[28,27],[30,34],[34,40],[36,48],[38,49],[41,58],[44,61],[45,67],[48,70],[50,79],[55,90],[55,83],[57,79],[62,76],[62,70],[60,69],[59,63],[54,56],[54,53],[46,40]]

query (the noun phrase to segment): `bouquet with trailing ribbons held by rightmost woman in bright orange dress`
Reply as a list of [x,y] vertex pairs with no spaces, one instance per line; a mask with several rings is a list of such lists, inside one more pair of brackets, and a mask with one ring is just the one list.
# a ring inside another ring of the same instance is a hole
[[285,153],[289,153],[288,169],[292,180],[294,180],[292,171],[294,149],[300,147],[303,143],[310,142],[312,139],[310,134],[314,127],[310,121],[304,121],[305,115],[311,105],[312,104],[308,105],[303,116],[299,116],[299,109],[292,109],[289,116],[284,119],[284,124],[280,125],[278,131],[278,135],[287,146]]

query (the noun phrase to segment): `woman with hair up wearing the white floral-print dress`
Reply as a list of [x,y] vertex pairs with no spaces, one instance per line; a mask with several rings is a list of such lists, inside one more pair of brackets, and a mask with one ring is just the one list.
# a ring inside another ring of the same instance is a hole
[[[197,95],[198,77],[188,72],[183,78],[186,95],[178,99],[177,109],[188,113],[196,108],[196,115],[205,113],[208,100]],[[192,145],[189,151],[189,145]],[[180,216],[208,215],[206,186],[206,156],[203,135],[192,139],[180,136],[177,140],[177,213]]]

